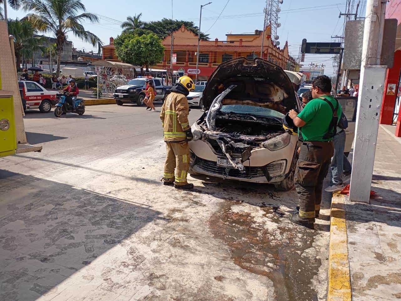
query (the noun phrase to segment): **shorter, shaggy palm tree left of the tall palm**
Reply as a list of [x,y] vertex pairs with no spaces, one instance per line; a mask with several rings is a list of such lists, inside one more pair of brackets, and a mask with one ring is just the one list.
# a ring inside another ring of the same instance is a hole
[[43,38],[34,36],[35,30],[28,20],[8,20],[8,33],[14,36],[14,52],[17,72],[20,71],[21,56],[33,56],[34,52],[42,50]]

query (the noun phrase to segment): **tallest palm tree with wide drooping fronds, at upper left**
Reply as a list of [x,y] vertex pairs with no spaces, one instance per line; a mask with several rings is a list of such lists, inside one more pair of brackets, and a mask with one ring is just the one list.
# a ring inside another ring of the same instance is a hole
[[[21,0],[22,9],[33,11],[26,17],[34,28],[44,34],[53,34],[57,45],[57,72],[60,74],[60,60],[68,34],[73,34],[84,42],[100,48],[103,44],[99,37],[85,30],[82,21],[99,22],[95,14],[87,12],[81,0]],[[80,11],[83,11],[79,14]]]

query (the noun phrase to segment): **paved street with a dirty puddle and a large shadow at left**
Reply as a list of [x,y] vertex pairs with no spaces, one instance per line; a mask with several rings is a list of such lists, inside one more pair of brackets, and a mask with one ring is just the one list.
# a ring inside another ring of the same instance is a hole
[[0,159],[1,300],[326,299],[327,200],[310,231],[286,218],[295,191],[162,185],[160,119],[143,107],[24,123],[43,151]]

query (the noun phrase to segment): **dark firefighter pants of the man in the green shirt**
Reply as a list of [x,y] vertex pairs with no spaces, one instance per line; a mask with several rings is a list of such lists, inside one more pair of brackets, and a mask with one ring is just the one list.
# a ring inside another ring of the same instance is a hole
[[323,180],[333,156],[332,141],[302,142],[295,171],[295,188],[300,200],[299,216],[314,222],[322,201]]

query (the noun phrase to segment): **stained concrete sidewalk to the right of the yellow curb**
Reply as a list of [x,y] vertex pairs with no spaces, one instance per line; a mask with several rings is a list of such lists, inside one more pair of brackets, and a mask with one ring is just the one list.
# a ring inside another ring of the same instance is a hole
[[352,300],[401,299],[400,143],[379,127],[370,204],[345,197]]

